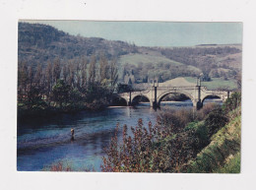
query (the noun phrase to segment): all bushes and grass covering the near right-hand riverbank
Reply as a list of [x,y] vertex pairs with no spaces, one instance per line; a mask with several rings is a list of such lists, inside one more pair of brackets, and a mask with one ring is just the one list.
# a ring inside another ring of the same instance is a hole
[[[150,122],[144,127],[139,119],[128,135],[129,129],[124,125],[121,140],[117,138],[117,125],[115,136],[105,150],[102,171],[221,172],[231,171],[230,165],[238,168],[238,158],[228,162],[240,150],[237,99],[239,93],[231,95],[222,107],[211,104],[197,112],[164,110],[155,126]],[[233,110],[227,110],[226,106]]]

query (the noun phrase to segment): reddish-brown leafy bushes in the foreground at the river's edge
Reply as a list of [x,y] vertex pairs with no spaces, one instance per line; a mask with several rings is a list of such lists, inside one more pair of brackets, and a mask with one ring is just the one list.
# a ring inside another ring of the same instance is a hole
[[[166,113],[168,112],[168,113]],[[103,158],[102,171],[121,172],[180,172],[183,164],[199,152],[194,130],[184,130],[192,120],[187,110],[162,111],[157,124],[131,127],[131,135],[125,125],[122,141],[118,142],[118,127]]]

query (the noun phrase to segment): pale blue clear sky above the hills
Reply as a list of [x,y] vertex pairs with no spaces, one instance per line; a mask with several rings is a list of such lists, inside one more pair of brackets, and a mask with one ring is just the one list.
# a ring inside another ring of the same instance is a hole
[[139,46],[242,43],[242,23],[25,21],[70,34],[134,42]]

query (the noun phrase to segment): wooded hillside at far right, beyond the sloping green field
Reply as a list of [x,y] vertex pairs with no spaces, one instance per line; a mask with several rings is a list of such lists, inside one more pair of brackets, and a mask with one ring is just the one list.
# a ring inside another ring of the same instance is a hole
[[[231,62],[240,62],[239,58],[230,58],[229,55],[239,54],[241,50],[235,46],[216,47],[175,47],[160,48],[165,57],[199,68],[205,75],[214,78],[234,78],[239,68],[233,67]],[[219,71],[218,68],[223,68]]]

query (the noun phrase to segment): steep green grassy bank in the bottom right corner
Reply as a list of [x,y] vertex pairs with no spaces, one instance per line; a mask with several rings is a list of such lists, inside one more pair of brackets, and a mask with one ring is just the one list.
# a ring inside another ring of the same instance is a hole
[[[239,112],[240,107],[237,111]],[[239,172],[240,170],[241,116],[232,119],[212,138],[194,160],[188,162],[192,173]]]

